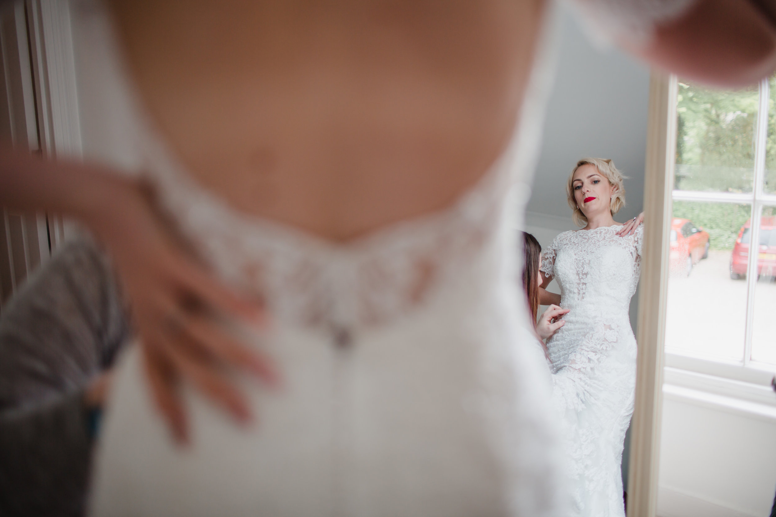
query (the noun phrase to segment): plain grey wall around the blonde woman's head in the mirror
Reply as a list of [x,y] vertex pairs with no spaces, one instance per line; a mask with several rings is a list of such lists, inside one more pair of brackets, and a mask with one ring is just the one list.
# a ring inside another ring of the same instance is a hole
[[615,219],[641,212],[650,71],[618,50],[595,48],[570,13],[563,33],[542,153],[528,211],[570,218],[565,184],[581,157],[615,160],[629,177]]

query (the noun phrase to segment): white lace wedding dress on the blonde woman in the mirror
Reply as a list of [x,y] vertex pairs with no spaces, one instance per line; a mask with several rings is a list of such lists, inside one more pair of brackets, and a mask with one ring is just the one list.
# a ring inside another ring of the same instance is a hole
[[570,454],[572,515],[624,516],[620,463],[636,388],[630,299],[639,283],[643,226],[564,232],[542,253],[560,285],[566,324],[547,340],[553,406]]

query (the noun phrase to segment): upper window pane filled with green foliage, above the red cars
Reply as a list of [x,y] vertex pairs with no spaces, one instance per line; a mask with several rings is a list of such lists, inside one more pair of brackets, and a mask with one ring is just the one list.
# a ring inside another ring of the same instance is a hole
[[675,189],[752,191],[758,102],[757,86],[715,91],[679,82]]

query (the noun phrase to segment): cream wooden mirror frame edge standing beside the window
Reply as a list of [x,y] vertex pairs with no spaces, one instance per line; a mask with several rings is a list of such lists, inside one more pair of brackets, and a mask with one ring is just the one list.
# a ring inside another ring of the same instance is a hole
[[636,342],[636,402],[628,472],[629,517],[655,517],[663,416],[668,236],[677,138],[677,79],[653,70],[644,167],[644,241]]

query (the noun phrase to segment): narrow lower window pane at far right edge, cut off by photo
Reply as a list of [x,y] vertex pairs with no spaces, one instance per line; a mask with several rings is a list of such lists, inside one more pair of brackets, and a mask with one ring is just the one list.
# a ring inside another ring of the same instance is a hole
[[[760,218],[757,284],[754,288],[752,360],[776,364],[776,208]],[[743,242],[743,240],[742,240]],[[748,246],[747,246],[748,247]]]

